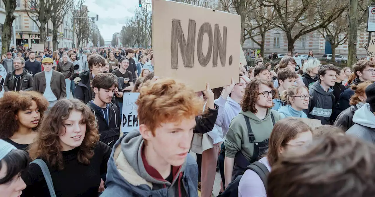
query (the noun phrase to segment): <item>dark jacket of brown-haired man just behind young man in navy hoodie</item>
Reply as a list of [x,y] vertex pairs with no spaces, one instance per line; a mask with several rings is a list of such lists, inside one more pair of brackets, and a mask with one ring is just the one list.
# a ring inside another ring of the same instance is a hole
[[75,86],[74,97],[87,104],[93,96],[90,87],[90,71],[81,72],[78,77],[81,81]]

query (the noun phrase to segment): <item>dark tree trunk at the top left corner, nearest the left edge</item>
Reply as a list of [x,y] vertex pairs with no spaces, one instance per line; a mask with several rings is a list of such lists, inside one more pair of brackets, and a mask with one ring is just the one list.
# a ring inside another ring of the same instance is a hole
[[13,13],[17,8],[17,0],[3,0],[3,3],[5,5],[5,21],[3,32],[1,32],[1,54],[6,54],[9,51],[10,40],[12,38],[12,24],[16,19]]

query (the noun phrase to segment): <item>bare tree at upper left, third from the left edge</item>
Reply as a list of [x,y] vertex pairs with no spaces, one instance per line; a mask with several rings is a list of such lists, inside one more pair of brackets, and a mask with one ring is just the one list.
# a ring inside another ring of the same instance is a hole
[[53,50],[57,49],[57,32],[58,28],[64,23],[64,18],[72,9],[73,0],[51,0],[52,12],[51,22],[52,30],[52,44]]

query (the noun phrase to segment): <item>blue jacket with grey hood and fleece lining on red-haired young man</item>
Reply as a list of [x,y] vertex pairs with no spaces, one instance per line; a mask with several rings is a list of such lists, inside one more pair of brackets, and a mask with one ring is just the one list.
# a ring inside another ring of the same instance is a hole
[[198,197],[198,165],[190,154],[181,165],[180,176],[172,183],[164,182],[145,170],[141,157],[143,143],[137,130],[117,140],[108,160],[107,188],[101,197],[178,197],[178,189],[183,197]]

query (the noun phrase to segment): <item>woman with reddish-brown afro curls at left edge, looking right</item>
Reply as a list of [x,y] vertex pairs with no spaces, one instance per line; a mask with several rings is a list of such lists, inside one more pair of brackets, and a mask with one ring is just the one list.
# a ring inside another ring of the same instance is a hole
[[49,103],[40,93],[6,92],[0,99],[0,138],[27,151]]

